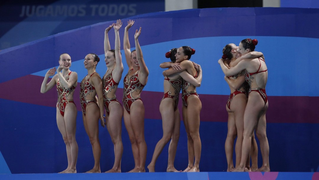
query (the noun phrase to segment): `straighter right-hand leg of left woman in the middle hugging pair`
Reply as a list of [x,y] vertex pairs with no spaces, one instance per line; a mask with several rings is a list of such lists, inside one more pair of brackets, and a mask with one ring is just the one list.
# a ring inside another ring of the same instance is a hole
[[180,135],[180,126],[181,126],[181,119],[180,119],[180,114],[177,108],[176,111],[174,112],[174,131],[172,135],[172,140],[169,143],[169,147],[168,147],[168,163],[167,163],[166,172],[182,172],[181,170],[178,171],[174,167],[177,143],[178,143],[178,139]]

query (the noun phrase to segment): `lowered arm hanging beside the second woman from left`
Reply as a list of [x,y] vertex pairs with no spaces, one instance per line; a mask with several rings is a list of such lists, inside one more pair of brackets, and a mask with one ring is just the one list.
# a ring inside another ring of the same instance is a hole
[[92,81],[92,85],[95,88],[96,95],[98,96],[101,125],[103,127],[105,127],[105,121],[104,121],[104,116],[103,116],[103,114],[104,114],[104,99],[103,99],[102,80],[101,80],[100,76],[92,76],[91,81]]

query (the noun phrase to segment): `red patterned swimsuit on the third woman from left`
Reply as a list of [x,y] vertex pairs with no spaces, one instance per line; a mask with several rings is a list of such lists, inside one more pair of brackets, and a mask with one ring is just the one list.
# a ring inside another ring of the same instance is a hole
[[[112,101],[116,101],[118,103],[120,103],[117,99],[116,96],[108,98],[108,92],[110,92],[112,89],[115,89],[117,87],[117,85],[119,83],[116,83],[112,77],[112,71],[108,74],[108,76],[105,77],[105,79],[102,79],[102,83],[103,83],[103,99],[104,99],[104,107],[105,110],[108,114],[110,114],[110,111],[108,110],[108,105],[110,104],[110,102]],[[106,75],[106,73],[105,73]],[[104,75],[104,76],[105,76]]]

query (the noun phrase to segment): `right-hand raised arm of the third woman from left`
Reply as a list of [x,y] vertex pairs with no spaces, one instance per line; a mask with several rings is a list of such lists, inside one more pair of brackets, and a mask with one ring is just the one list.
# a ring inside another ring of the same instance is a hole
[[113,26],[115,32],[115,74],[113,75],[115,82],[120,82],[123,72],[123,63],[122,63],[122,55],[121,55],[121,44],[120,44],[120,35],[119,30],[122,27],[121,19],[116,21],[116,24]]

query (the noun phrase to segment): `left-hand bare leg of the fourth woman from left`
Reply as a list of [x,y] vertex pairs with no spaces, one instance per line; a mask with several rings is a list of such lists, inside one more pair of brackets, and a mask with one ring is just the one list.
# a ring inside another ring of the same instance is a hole
[[135,134],[134,134],[133,128],[131,126],[130,114],[124,108],[123,108],[123,116],[124,116],[124,125],[125,125],[125,128],[127,130],[127,133],[129,134],[129,138],[131,141],[133,158],[134,158],[134,163],[135,163],[134,169],[130,170],[129,172],[137,172],[138,167],[140,166],[139,151],[138,151],[137,142],[135,139]]

